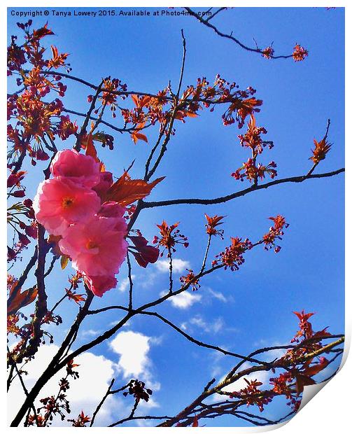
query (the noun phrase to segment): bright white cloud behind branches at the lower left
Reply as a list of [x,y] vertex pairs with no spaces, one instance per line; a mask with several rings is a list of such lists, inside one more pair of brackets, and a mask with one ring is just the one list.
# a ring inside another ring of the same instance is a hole
[[[94,330],[86,330],[86,334]],[[75,368],[78,371],[79,378],[70,379],[70,388],[66,392],[70,402],[71,413],[66,419],[73,419],[83,410],[88,416],[92,416],[101,398],[115,378],[116,388],[126,384],[131,377],[139,377],[148,384],[154,392],[160,390],[160,384],[153,380],[151,369],[153,364],[148,357],[150,345],[160,344],[160,338],[148,337],[141,333],[127,331],[120,332],[111,342],[111,349],[120,355],[118,363],[104,356],[96,356],[93,353],[83,353],[74,359],[79,366]],[[27,389],[34,386],[36,380],[41,375],[48,361],[52,359],[58,350],[57,345],[44,345],[38,349],[38,353],[31,363],[25,367],[28,375],[23,376]],[[48,381],[36,399],[36,407],[40,407],[39,400],[46,396],[56,394],[59,390],[59,379],[64,377],[66,370],[61,370]],[[15,379],[10,386],[8,393],[8,421],[10,422],[17,413],[20,405],[24,401],[24,393],[20,381]],[[109,396],[104,406],[100,409],[94,426],[108,426],[110,423],[128,416],[130,412],[131,400],[122,396]],[[158,407],[155,396],[150,398],[149,402],[140,402],[141,414],[147,413],[148,409]],[[70,423],[61,421],[56,417],[51,426],[70,426]]]

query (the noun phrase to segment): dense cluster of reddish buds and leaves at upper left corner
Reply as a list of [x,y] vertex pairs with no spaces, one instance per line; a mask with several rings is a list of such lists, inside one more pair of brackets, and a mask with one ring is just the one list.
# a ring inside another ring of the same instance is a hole
[[[45,58],[47,50],[41,45],[42,39],[53,35],[47,25],[31,29],[32,22],[17,23],[24,31],[24,43],[17,45],[17,37],[11,38],[8,46],[8,75],[18,75],[16,83],[24,86],[21,92],[8,94],[8,141],[13,144],[8,152],[8,167],[16,167],[23,155],[28,155],[31,164],[50,158],[47,150],[55,148],[55,138],[66,140],[76,135],[78,126],[69,116],[62,116],[64,106],[60,97],[64,97],[66,85],[62,75],[52,71],[64,68],[71,71],[66,63],[67,53],[59,53],[51,46],[51,57]],[[28,64],[29,72],[24,72]],[[45,73],[50,71],[50,75]],[[48,94],[57,94],[52,101],[43,101]],[[15,125],[15,126],[13,126]],[[46,148],[46,149],[45,149]]]

